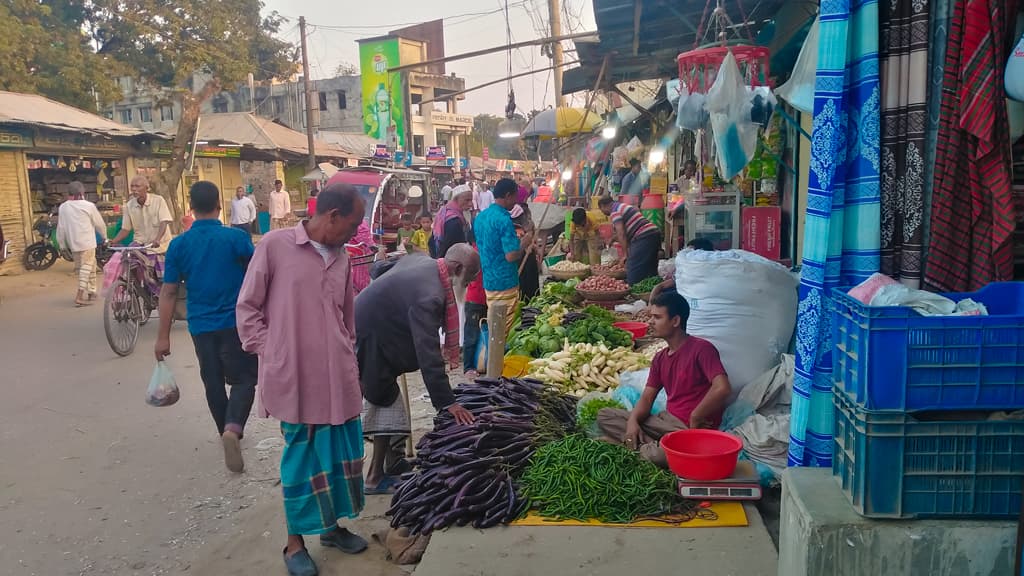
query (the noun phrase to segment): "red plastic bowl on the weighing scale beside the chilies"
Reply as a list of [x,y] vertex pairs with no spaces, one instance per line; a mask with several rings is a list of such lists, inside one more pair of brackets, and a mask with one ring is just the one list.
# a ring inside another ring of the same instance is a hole
[[722,480],[736,469],[743,443],[718,430],[676,430],[662,437],[669,468],[687,480]]

